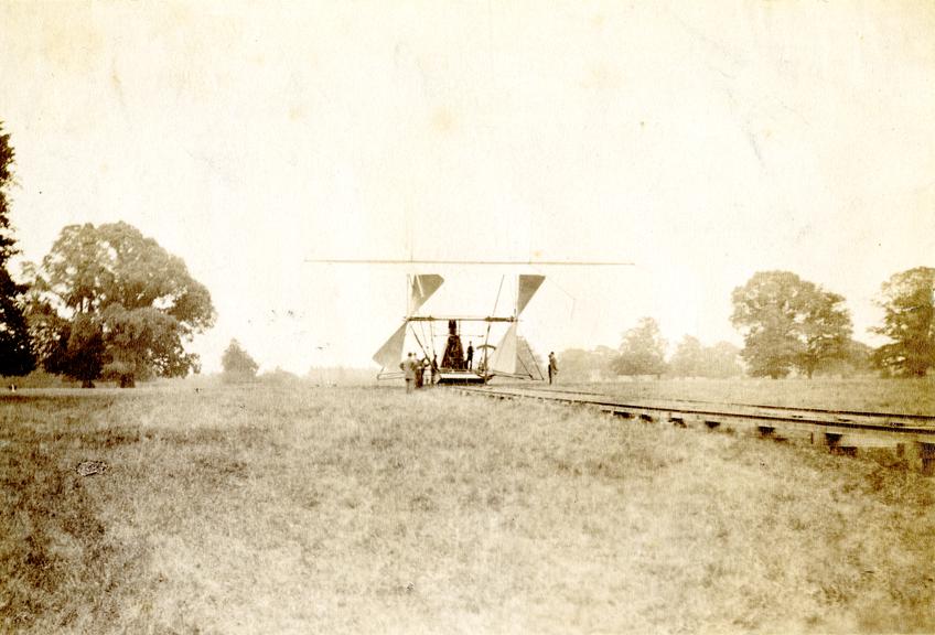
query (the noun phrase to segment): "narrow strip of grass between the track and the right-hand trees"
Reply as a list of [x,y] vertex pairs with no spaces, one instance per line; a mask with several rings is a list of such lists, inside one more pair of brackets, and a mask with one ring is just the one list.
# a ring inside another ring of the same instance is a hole
[[559,384],[557,388],[582,388],[627,399],[698,399],[702,401],[759,403],[870,410],[935,416],[935,376],[921,379],[873,377],[835,379],[642,379],[604,384]]

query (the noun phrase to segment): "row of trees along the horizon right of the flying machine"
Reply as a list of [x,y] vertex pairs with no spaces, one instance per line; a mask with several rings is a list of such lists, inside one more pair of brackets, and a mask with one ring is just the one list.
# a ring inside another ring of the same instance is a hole
[[616,376],[804,377],[880,372],[922,377],[935,366],[935,269],[917,267],[883,283],[878,305],[883,325],[871,332],[890,340],[878,348],[853,340],[842,295],[789,271],[761,271],[731,294],[731,322],[743,348],[728,342],[705,346],[686,335],[670,357],[658,323],[643,318],[616,349],[572,348],[560,354],[566,380]]

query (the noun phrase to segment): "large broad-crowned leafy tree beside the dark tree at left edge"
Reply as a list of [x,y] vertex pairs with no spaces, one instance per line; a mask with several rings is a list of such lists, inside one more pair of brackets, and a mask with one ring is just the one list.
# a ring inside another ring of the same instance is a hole
[[214,323],[211,294],[137,228],[64,227],[34,277],[30,315],[46,369],[121,387],[198,370],[184,343]]

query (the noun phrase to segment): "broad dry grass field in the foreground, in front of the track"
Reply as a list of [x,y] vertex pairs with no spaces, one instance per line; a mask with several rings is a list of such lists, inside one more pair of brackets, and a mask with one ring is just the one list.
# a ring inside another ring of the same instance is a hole
[[935,632],[935,480],[866,459],[438,388],[0,421],[4,633]]

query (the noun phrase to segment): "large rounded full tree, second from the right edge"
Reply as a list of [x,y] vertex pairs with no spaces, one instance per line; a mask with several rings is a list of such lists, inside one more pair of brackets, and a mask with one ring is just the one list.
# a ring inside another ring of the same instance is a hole
[[851,333],[843,298],[789,271],[760,271],[733,290],[731,322],[744,336],[741,356],[759,377],[812,376],[846,355]]

